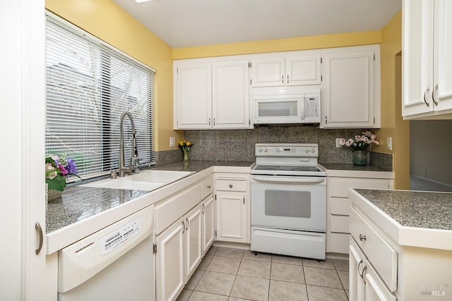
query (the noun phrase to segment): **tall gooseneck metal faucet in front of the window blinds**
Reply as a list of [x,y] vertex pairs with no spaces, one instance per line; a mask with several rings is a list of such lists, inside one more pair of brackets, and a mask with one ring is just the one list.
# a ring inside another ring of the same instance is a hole
[[[125,166],[124,163],[124,118],[129,117],[132,126],[132,151],[130,156],[129,167]],[[133,121],[133,116],[129,112],[124,112],[121,115],[121,120],[119,121],[119,176],[124,177],[126,173],[140,173],[140,168],[138,164],[140,163],[140,158],[138,158],[138,149],[136,148],[136,132],[135,132],[135,121]]]

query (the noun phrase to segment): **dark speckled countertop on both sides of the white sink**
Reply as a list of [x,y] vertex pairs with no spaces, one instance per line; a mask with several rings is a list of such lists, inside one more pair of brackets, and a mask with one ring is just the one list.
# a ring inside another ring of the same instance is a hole
[[[189,161],[188,163],[179,161],[157,166],[153,169],[198,172],[211,166],[249,167],[252,164],[253,162],[238,161]],[[88,188],[80,185],[70,186],[64,190],[60,199],[49,202],[47,205],[46,233],[51,233],[72,223],[93,217],[102,213],[102,211],[146,195],[150,191]]]

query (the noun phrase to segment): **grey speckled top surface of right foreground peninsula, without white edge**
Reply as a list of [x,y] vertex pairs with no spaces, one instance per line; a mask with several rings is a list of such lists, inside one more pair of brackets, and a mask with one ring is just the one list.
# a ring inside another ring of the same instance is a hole
[[452,231],[452,193],[356,189],[401,226]]

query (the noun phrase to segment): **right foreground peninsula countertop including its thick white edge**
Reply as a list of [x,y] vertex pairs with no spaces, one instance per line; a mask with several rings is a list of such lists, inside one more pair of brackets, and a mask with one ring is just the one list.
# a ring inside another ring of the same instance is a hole
[[350,190],[357,207],[398,245],[452,250],[452,193]]

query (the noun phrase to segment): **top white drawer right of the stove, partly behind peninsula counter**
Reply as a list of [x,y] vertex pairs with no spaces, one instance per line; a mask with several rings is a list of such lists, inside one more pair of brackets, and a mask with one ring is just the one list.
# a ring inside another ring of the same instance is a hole
[[388,189],[388,179],[367,178],[329,178],[330,197],[348,197],[348,188]]

